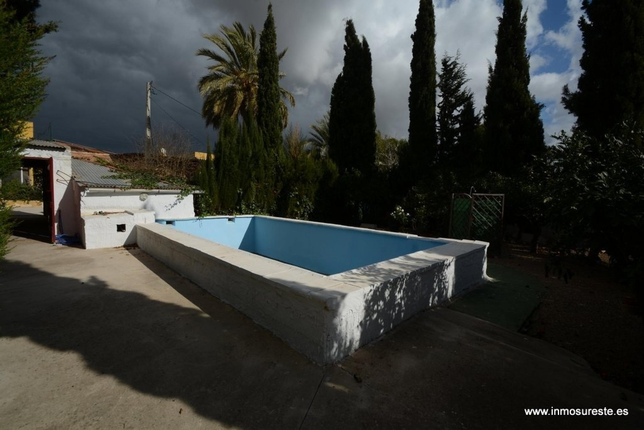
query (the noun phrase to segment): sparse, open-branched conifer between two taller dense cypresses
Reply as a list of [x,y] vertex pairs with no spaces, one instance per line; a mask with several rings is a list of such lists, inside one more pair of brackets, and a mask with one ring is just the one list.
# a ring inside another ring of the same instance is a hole
[[465,84],[469,81],[464,64],[459,63],[460,52],[456,57],[445,54],[440,61],[438,104],[439,165],[453,166],[455,146],[459,139],[460,115],[473,94]]

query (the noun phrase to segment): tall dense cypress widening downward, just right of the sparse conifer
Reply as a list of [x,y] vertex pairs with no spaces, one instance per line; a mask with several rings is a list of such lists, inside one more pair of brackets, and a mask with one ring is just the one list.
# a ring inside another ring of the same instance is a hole
[[490,66],[484,109],[484,162],[504,175],[512,175],[545,150],[544,124],[539,117],[542,105],[528,90],[527,14],[521,11],[521,0],[504,0],[498,19],[497,60]]

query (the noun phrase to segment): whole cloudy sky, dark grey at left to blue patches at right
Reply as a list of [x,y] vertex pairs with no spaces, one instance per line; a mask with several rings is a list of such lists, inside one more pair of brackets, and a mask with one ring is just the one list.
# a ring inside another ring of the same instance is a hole
[[[35,118],[41,138],[77,142],[112,151],[132,151],[145,129],[146,81],[200,110],[196,89],[207,61],[194,55],[209,46],[204,33],[240,21],[261,29],[267,0],[41,0],[39,21],[59,21],[43,40],[55,55],[46,70],[48,99]],[[293,124],[308,126],[328,110],[330,88],[342,68],[343,20],[351,17],[373,57],[378,128],[407,136],[410,61],[417,0],[273,0],[282,85],[294,93]],[[469,85],[482,109],[488,61],[494,62],[501,0],[434,0],[437,59],[460,50]],[[568,130],[574,118],[560,104],[562,86],[576,88],[582,54],[576,26],[581,0],[524,0],[528,10],[531,91],[545,104],[546,134]],[[210,47],[210,46],[209,46]],[[178,122],[205,148],[200,115],[156,93],[153,128]],[[164,112],[165,110],[165,112]],[[172,118],[172,119],[171,119]],[[176,121],[176,122],[174,122]],[[51,124],[51,126],[50,126]],[[547,138],[547,141],[551,139]]]

